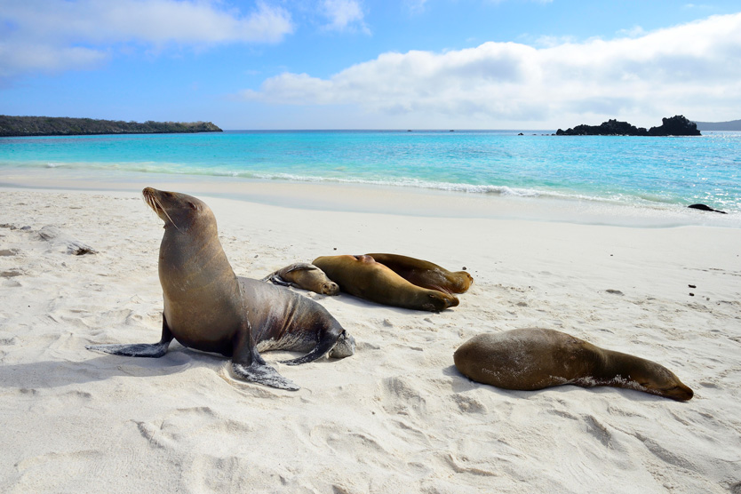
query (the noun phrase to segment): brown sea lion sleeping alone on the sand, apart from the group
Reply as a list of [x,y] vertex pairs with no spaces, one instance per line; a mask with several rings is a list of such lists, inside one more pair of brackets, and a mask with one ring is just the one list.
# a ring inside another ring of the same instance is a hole
[[467,378],[531,391],[573,384],[645,391],[677,401],[693,392],[663,365],[600,348],[561,331],[523,329],[474,336],[453,360]]

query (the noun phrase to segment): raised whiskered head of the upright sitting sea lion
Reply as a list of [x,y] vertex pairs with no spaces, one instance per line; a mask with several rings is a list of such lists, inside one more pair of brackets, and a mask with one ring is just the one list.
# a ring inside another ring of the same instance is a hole
[[153,187],[146,187],[141,191],[141,195],[144,196],[147,205],[164,221],[165,228],[174,227],[184,232],[196,223],[203,223],[204,219],[207,224],[216,225],[211,208],[192,195],[157,190]]

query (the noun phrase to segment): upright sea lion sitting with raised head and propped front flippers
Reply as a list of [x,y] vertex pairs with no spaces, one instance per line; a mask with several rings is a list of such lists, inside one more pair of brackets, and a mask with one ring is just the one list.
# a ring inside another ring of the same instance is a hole
[[232,358],[238,378],[299,389],[259,355],[295,350],[312,362],[324,355],[346,357],[355,339],[312,299],[259,280],[237,277],[221,248],[211,209],[195,197],[147,187],[147,204],[164,221],[159,277],[163,289],[162,339],[154,344],[92,345],[114,355],[161,357],[172,339],[183,346]]

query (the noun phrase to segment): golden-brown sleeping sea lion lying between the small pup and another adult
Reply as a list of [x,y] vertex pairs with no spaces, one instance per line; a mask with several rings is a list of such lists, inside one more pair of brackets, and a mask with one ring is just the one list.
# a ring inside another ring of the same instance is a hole
[[323,256],[312,264],[339,284],[339,290],[378,304],[432,312],[458,305],[449,293],[409,283],[371,256]]

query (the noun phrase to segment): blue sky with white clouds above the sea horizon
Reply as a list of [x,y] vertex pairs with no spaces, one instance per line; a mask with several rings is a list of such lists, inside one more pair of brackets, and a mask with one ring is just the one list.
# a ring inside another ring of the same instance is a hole
[[0,115],[225,130],[741,118],[741,2],[0,0]]

